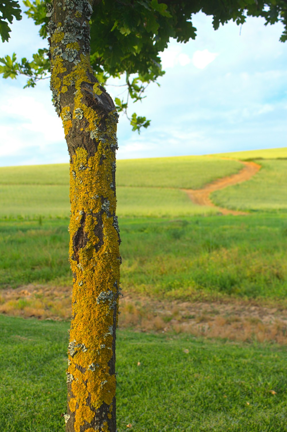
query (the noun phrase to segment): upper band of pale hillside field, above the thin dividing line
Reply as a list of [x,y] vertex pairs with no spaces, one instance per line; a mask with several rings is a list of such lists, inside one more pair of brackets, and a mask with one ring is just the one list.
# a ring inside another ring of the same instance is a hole
[[[117,186],[198,189],[216,178],[238,172],[237,161],[217,156],[178,156],[117,161]],[[0,184],[69,185],[69,164],[0,168]]]

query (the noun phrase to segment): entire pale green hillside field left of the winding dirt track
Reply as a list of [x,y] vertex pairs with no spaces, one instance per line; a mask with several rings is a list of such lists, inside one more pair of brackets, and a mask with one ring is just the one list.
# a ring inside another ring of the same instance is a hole
[[[214,209],[190,202],[181,188],[203,187],[242,165],[219,158],[186,156],[118,161],[119,216],[191,216]],[[69,165],[0,168],[0,219],[69,217]]]

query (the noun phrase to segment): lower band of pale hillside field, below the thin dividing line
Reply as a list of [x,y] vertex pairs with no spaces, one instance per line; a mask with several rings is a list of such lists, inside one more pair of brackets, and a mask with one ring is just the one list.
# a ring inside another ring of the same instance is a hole
[[[184,191],[159,187],[117,187],[117,214],[130,217],[211,215],[216,209],[193,204]],[[0,219],[67,218],[69,186],[3,184]]]

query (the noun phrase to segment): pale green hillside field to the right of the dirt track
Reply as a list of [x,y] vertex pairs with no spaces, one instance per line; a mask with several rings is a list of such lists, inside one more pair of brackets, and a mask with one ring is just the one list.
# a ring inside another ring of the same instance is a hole
[[287,160],[259,160],[262,168],[249,181],[211,194],[212,201],[234,210],[287,210]]

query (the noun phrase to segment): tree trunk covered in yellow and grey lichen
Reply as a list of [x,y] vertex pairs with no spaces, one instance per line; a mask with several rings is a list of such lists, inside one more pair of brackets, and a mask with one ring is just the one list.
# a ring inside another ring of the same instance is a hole
[[118,114],[90,66],[90,3],[53,0],[51,90],[70,155],[73,273],[66,432],[116,432],[115,329],[119,227],[115,216]]

